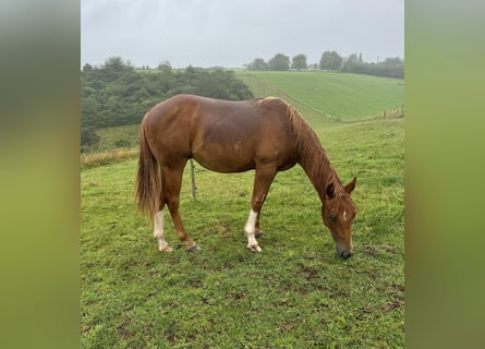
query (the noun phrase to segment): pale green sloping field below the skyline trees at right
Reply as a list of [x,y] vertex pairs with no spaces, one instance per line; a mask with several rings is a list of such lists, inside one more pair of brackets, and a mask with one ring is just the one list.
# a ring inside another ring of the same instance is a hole
[[237,75],[258,97],[272,93],[342,120],[389,112],[404,104],[403,80],[322,71],[238,71]]

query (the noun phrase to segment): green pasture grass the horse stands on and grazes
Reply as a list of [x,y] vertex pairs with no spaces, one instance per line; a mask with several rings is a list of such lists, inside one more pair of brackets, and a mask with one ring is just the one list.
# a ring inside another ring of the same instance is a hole
[[136,213],[136,160],[83,169],[82,347],[402,348],[403,120],[316,121],[342,180],[357,177],[348,261],[336,255],[298,166],[271,185],[260,254],[243,234],[253,172],[197,166],[197,202],[186,172],[181,214],[203,251],[186,253],[166,215],[175,251],[161,254]]

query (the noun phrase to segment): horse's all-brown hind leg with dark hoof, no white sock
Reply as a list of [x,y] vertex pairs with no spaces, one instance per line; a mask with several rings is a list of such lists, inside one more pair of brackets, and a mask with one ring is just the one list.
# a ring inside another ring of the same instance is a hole
[[165,172],[165,195],[166,203],[169,207],[170,215],[175,227],[179,239],[185,244],[190,252],[199,251],[201,248],[189,237],[183,227],[182,217],[180,216],[180,190],[182,189],[183,167],[177,171]]

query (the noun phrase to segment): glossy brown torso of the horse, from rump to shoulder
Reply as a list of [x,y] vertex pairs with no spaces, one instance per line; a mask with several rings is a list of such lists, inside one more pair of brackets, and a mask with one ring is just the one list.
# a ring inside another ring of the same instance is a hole
[[295,155],[286,107],[277,98],[229,101],[177,95],[155,106],[144,125],[160,161],[193,157],[220,172],[263,163],[289,168]]

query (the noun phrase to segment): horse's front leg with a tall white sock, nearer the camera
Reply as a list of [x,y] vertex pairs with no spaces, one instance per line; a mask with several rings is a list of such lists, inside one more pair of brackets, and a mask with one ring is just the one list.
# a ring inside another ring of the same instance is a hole
[[259,215],[276,172],[276,169],[256,169],[250,217],[244,227],[244,232],[247,236],[247,249],[253,252],[262,251],[256,240],[256,236],[262,233],[259,228]]

